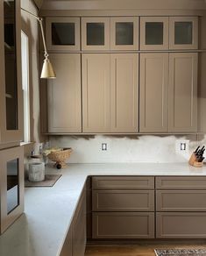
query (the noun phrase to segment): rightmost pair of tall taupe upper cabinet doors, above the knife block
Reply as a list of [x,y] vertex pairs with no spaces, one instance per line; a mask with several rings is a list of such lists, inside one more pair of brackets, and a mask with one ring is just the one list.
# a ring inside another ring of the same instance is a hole
[[139,132],[197,131],[197,57],[140,54]]

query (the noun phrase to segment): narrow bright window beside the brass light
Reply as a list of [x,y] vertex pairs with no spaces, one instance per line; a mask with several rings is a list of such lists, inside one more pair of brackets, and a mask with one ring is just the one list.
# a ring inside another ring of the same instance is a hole
[[24,99],[24,141],[30,141],[29,40],[21,32],[22,89]]

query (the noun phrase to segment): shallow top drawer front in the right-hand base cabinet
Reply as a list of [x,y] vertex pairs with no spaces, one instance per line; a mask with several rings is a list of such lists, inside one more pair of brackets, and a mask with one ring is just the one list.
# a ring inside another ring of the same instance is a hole
[[157,177],[156,188],[160,189],[204,189],[206,177]]

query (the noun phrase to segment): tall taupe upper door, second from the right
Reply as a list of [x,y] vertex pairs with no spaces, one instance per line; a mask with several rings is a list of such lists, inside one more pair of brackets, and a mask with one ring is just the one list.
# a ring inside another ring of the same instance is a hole
[[167,132],[168,53],[140,54],[139,132]]

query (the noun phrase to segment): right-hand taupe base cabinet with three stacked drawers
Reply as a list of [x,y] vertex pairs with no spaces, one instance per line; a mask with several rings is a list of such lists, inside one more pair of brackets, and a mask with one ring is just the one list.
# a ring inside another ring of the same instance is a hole
[[205,177],[156,177],[156,237],[204,238]]

